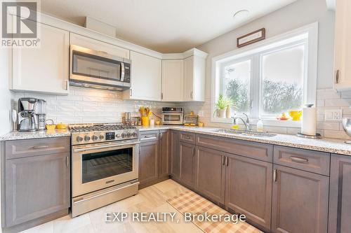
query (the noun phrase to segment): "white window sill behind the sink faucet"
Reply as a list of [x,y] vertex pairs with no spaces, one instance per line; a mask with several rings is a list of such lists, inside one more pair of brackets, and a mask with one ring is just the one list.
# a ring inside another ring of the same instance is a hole
[[[275,119],[265,119],[262,120],[264,126],[274,126],[274,127],[290,127],[290,128],[300,128],[300,120],[275,120]],[[232,124],[232,119],[229,118],[212,118],[211,122]],[[258,119],[250,119],[251,126],[256,126]],[[239,125],[244,125],[240,120],[238,121]]]

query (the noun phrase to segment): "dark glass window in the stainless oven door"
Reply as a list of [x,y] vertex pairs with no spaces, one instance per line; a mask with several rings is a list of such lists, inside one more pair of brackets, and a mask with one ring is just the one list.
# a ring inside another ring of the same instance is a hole
[[133,170],[133,148],[81,155],[82,183],[98,181]]

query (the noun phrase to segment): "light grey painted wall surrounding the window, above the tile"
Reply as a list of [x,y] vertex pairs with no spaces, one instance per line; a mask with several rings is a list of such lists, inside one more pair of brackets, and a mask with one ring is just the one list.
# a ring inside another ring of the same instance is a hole
[[212,57],[237,49],[237,37],[265,27],[266,38],[270,38],[316,21],[319,22],[317,89],[332,87],[334,17],[334,12],[327,10],[324,0],[298,0],[200,45],[199,50],[208,52],[206,97],[210,97],[211,93]]

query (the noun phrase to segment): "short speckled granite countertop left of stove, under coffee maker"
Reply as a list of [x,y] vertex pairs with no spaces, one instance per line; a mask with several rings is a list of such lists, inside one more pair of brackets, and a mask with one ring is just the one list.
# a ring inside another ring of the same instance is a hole
[[50,129],[37,132],[10,132],[0,136],[0,141],[22,140],[22,139],[43,139],[58,136],[71,136],[68,129]]

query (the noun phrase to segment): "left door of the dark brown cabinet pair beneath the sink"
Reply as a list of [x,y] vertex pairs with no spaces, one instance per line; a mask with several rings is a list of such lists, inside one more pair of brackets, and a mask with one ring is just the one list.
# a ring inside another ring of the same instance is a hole
[[196,147],[195,189],[213,202],[224,204],[225,153]]

